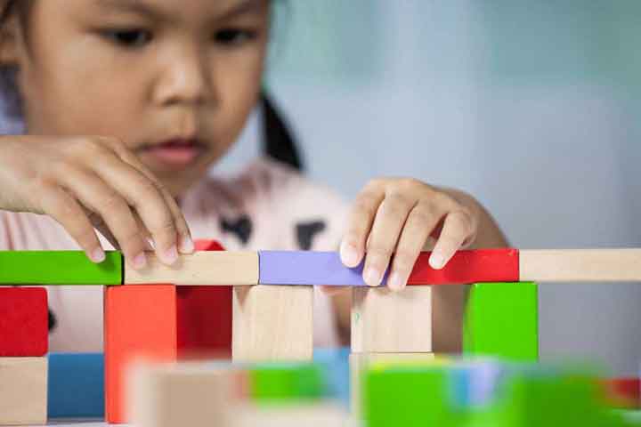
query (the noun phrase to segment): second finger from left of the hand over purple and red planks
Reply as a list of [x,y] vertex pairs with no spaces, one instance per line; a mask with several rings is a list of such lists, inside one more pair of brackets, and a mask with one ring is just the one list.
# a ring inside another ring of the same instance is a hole
[[415,201],[408,197],[393,193],[386,196],[379,206],[369,233],[363,268],[363,279],[369,286],[380,285],[414,203]]

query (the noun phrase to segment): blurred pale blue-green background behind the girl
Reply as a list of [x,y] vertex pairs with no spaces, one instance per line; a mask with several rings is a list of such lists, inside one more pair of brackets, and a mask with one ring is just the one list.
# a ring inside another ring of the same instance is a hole
[[[265,85],[312,178],[478,197],[522,248],[641,246],[641,2],[296,0]],[[219,170],[260,151],[258,117]],[[641,286],[540,287],[543,359],[641,364]]]

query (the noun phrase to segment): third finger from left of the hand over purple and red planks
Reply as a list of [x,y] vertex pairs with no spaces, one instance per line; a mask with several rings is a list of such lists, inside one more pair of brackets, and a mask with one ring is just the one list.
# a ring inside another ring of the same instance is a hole
[[410,278],[418,254],[426,244],[430,233],[445,214],[433,203],[421,202],[411,210],[401,232],[387,286],[394,291],[402,290]]

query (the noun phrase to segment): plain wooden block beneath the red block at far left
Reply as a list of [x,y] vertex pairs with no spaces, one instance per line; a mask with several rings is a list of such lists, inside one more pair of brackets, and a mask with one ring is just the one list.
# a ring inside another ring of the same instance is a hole
[[0,358],[0,425],[45,424],[47,359]]

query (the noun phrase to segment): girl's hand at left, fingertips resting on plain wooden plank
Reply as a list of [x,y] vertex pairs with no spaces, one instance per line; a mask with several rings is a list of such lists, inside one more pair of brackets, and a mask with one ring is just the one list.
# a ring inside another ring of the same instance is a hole
[[0,137],[0,209],[53,217],[93,262],[105,257],[94,227],[134,269],[146,249],[168,265],[194,250],[174,197],[111,138]]

